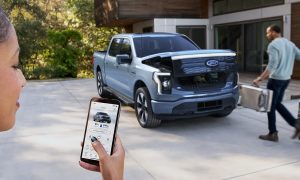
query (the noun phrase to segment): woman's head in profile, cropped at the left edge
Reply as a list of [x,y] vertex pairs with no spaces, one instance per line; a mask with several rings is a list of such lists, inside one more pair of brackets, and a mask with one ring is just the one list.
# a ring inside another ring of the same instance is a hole
[[18,69],[19,44],[14,27],[0,7],[0,131],[13,127],[26,80]]

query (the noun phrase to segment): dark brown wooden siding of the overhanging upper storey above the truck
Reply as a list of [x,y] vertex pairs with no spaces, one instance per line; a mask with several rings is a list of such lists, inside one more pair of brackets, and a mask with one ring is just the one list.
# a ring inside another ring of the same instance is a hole
[[124,26],[153,18],[208,18],[208,0],[94,0],[97,25]]

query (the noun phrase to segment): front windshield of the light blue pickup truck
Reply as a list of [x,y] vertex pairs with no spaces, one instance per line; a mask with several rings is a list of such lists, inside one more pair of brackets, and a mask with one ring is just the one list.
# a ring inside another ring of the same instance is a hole
[[200,49],[184,36],[142,36],[134,38],[133,41],[137,57]]

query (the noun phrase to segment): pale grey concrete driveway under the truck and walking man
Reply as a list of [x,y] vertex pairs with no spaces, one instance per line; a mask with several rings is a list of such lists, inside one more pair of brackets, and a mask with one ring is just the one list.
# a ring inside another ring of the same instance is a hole
[[[29,81],[13,130],[0,133],[0,179],[100,179],[78,165],[88,103],[97,96],[94,79]],[[285,105],[296,116],[298,100]],[[237,108],[226,118],[139,126],[123,106],[119,134],[126,150],[125,179],[300,179],[300,140],[279,116],[279,142],[267,132],[264,113]]]

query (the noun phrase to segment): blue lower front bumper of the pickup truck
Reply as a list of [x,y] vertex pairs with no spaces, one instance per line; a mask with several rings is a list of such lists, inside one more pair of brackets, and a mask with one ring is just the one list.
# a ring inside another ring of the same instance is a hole
[[238,97],[238,91],[234,90],[221,95],[184,98],[177,101],[152,100],[151,104],[157,118],[178,119],[232,111],[236,107]]

